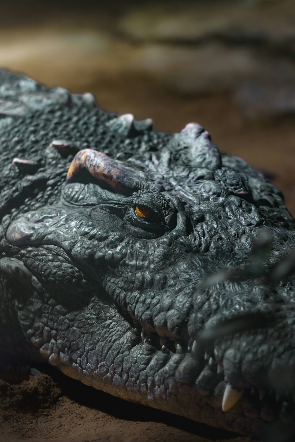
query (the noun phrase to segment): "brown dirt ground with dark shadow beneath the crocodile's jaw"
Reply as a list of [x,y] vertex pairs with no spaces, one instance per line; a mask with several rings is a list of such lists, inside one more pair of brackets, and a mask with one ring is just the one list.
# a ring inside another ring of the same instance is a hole
[[57,372],[15,385],[0,381],[0,430],[3,442],[251,440],[126,403]]

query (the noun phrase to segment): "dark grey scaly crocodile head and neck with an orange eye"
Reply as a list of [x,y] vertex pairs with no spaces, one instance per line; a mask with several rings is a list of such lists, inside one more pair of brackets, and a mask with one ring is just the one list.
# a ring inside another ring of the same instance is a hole
[[197,124],[155,133],[4,71],[0,112],[2,369],[49,362],[242,434],[291,419],[295,221],[281,192]]

